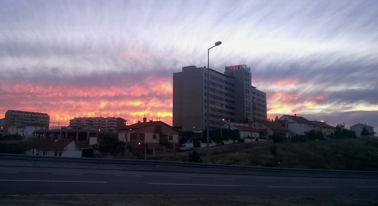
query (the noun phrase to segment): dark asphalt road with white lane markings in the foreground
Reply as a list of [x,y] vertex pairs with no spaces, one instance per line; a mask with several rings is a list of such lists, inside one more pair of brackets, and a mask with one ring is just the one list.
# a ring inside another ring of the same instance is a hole
[[378,179],[215,175],[0,166],[2,195],[378,194]]

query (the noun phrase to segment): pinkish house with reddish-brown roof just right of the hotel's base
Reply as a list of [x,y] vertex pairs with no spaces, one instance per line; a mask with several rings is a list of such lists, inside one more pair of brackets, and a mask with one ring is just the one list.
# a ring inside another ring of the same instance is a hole
[[251,122],[251,126],[260,132],[260,138],[264,137],[268,139],[268,137],[274,134],[291,138],[290,131],[274,121],[255,120]]

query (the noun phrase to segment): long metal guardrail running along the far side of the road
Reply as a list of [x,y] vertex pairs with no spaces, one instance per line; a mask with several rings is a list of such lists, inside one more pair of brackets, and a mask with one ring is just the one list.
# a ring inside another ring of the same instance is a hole
[[378,172],[370,171],[268,168],[160,160],[45,157],[17,154],[0,154],[0,165],[285,177],[378,178]]

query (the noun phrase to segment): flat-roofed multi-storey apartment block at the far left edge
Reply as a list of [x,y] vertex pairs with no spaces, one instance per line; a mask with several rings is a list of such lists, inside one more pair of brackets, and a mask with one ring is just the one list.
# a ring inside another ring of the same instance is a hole
[[48,128],[49,122],[50,116],[46,113],[8,110],[5,113],[3,122],[4,135],[9,134],[9,127],[38,124],[42,127]]

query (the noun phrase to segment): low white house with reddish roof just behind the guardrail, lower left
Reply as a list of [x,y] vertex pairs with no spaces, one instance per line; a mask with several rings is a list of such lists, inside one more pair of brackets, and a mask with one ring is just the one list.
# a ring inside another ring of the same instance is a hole
[[81,157],[81,148],[73,140],[34,140],[26,155]]

